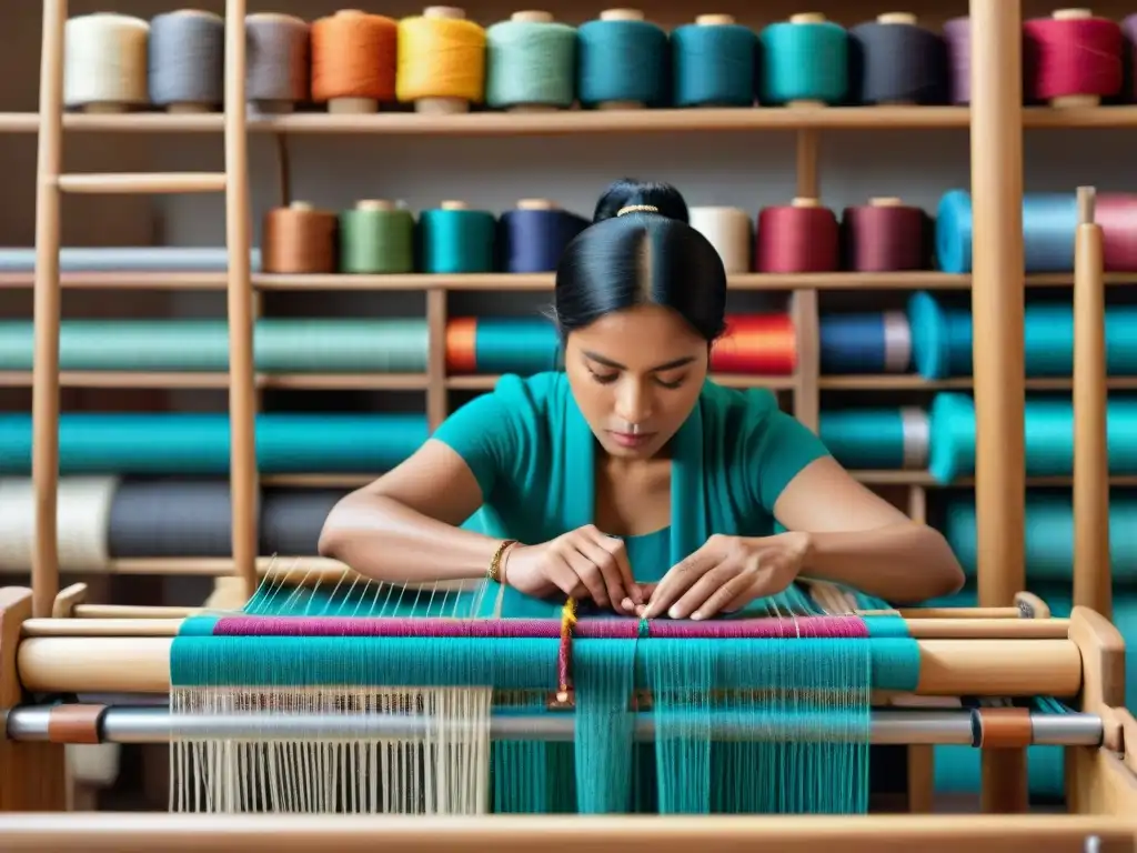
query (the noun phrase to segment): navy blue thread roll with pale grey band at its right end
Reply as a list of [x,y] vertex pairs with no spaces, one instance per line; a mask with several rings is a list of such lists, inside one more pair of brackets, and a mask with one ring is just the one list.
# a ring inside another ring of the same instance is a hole
[[912,331],[902,312],[821,318],[822,373],[904,373],[911,362]]

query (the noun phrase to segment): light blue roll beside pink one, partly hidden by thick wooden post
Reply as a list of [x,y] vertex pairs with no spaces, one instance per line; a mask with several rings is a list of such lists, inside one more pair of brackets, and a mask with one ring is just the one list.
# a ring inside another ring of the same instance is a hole
[[[1026,272],[1067,273],[1073,270],[1073,237],[1078,201],[1072,192],[1022,197],[1022,241]],[[944,193],[936,210],[936,258],[945,273],[971,272],[971,194]]]

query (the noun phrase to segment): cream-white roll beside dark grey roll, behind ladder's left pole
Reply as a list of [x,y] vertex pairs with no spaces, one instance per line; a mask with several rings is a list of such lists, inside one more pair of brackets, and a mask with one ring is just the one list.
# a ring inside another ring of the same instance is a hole
[[[56,496],[59,570],[105,572],[110,565],[110,505],[115,477],[65,477]],[[26,572],[35,544],[35,487],[31,478],[0,480],[0,571]]]

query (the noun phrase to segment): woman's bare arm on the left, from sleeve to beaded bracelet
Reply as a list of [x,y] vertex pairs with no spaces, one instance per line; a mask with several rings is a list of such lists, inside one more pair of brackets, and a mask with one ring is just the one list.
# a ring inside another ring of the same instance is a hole
[[428,440],[332,508],[319,554],[389,582],[480,578],[501,540],[458,524],[481,505],[481,487],[466,462],[448,445]]

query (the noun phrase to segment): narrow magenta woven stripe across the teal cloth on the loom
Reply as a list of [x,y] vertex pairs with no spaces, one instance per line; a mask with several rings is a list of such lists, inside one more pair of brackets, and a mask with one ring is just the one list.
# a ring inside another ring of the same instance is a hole
[[[575,639],[642,637],[640,620],[582,619],[573,626]],[[561,637],[556,619],[366,619],[352,616],[223,616],[214,626],[224,637]],[[858,616],[725,619],[711,622],[653,620],[647,637],[781,639],[794,637],[868,637]]]

